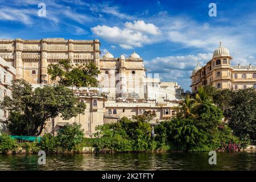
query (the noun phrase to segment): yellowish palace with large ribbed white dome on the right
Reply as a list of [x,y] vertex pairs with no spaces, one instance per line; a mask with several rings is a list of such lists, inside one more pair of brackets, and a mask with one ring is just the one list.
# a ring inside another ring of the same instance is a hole
[[213,52],[213,57],[206,65],[197,66],[191,75],[192,94],[200,86],[212,85],[217,89],[256,89],[256,66],[231,65],[233,57],[229,50],[220,46]]

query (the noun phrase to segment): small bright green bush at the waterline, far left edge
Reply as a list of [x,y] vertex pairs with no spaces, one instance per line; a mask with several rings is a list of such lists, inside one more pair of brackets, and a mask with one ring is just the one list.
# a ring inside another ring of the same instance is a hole
[[6,154],[7,152],[14,150],[18,146],[16,140],[11,139],[9,135],[1,134],[0,135],[0,153]]

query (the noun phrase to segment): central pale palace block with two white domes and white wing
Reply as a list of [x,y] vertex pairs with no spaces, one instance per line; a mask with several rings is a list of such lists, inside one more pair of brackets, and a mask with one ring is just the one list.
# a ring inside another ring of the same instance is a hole
[[[112,53],[106,52],[100,59],[101,74],[98,77],[102,92],[109,101],[132,100],[163,100],[163,97],[175,100],[180,99],[176,82],[160,82],[159,79],[146,77],[146,68],[142,57],[133,52],[130,56],[121,55],[115,58]],[[154,76],[153,76],[154,77]],[[154,84],[154,81],[157,82]],[[150,82],[150,84],[148,84]],[[162,85],[162,86],[161,86]],[[159,89],[163,89],[160,93]],[[156,93],[159,96],[156,96]]]

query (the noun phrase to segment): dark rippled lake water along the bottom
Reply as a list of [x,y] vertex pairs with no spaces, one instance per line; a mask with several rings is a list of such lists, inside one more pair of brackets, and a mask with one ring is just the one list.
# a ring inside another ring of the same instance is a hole
[[209,165],[208,152],[168,154],[0,155],[0,170],[256,170],[256,152],[217,153]]

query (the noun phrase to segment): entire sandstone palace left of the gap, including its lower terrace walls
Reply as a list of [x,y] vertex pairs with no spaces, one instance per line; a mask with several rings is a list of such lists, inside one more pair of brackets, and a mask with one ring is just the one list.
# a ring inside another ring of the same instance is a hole
[[16,78],[23,78],[34,88],[53,83],[47,67],[61,59],[69,59],[74,65],[93,61],[100,69],[98,88],[73,90],[79,101],[85,102],[85,114],[68,120],[48,119],[44,133],[55,134],[65,124],[79,122],[86,137],[92,137],[97,125],[132,118],[144,111],[156,113],[152,122],[177,114],[182,98],[177,82],[162,82],[158,74],[146,75],[143,59],[136,52],[127,57],[114,57],[110,52],[100,57],[100,53],[98,39],[0,40],[0,57],[14,67]]

